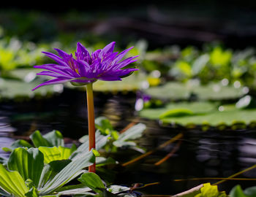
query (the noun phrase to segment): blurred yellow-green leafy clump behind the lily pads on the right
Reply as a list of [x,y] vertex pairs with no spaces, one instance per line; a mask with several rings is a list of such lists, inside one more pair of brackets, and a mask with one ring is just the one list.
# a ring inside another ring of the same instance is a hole
[[176,61],[170,62],[168,75],[176,80],[198,79],[201,83],[226,79],[255,85],[255,49],[231,50],[221,45],[208,45],[198,50],[186,47],[180,50]]

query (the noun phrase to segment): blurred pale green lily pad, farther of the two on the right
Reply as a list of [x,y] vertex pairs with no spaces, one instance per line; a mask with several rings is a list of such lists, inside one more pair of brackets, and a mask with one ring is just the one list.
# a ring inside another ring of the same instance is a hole
[[199,85],[197,83],[167,82],[165,85],[151,87],[145,93],[154,99],[178,100],[189,99],[195,96],[198,100],[227,100],[238,99],[248,93],[248,88],[235,88],[231,85],[225,86],[219,83]]

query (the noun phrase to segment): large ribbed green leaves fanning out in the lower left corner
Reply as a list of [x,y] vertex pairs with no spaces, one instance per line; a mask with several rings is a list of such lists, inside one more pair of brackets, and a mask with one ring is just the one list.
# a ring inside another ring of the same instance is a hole
[[94,161],[94,153],[87,151],[78,158],[47,162],[39,148],[18,147],[12,151],[7,166],[0,164],[0,193],[20,197],[64,192],[68,190],[64,185],[85,173],[84,168]]

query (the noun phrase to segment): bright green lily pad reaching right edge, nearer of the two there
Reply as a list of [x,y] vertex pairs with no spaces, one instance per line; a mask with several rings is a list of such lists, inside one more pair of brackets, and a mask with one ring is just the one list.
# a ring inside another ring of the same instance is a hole
[[[187,109],[186,115],[173,113],[171,116],[165,115],[172,110]],[[234,123],[244,123],[249,125],[256,121],[256,109],[238,109],[235,104],[219,106],[218,103],[211,102],[180,102],[170,103],[162,108],[143,109],[139,112],[140,117],[151,120],[162,120],[163,123],[178,125],[233,125]]]

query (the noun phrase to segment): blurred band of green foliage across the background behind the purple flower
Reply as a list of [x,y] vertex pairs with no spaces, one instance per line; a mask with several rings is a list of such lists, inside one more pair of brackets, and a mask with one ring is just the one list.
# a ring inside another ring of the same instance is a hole
[[[23,18],[20,18],[20,16]],[[52,60],[41,52],[55,53],[61,48],[74,53],[76,42],[81,42],[89,51],[116,41],[116,51],[134,46],[127,56],[137,55],[140,73],[155,80],[156,85],[166,81],[189,82],[196,79],[200,84],[238,82],[250,88],[256,86],[256,53],[252,47],[233,50],[218,42],[202,47],[178,45],[151,48],[144,39],[124,37],[118,34],[94,34],[94,25],[104,16],[69,12],[65,15],[50,15],[39,12],[0,12],[0,76],[12,77],[14,69],[31,68],[50,63]],[[158,76],[154,76],[158,71]],[[151,80],[152,81],[152,80]]]

